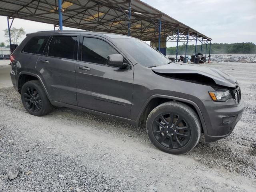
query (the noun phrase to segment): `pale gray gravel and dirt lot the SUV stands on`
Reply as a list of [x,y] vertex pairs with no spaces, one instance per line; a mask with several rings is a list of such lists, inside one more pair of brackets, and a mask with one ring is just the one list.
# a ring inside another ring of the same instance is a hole
[[[179,156],[156,149],[144,130],[124,122],[68,108],[31,116],[20,95],[1,85],[0,191],[256,191],[256,64],[208,66],[238,79],[245,111],[229,137],[210,145],[202,138]],[[6,179],[14,164],[18,177]]]

